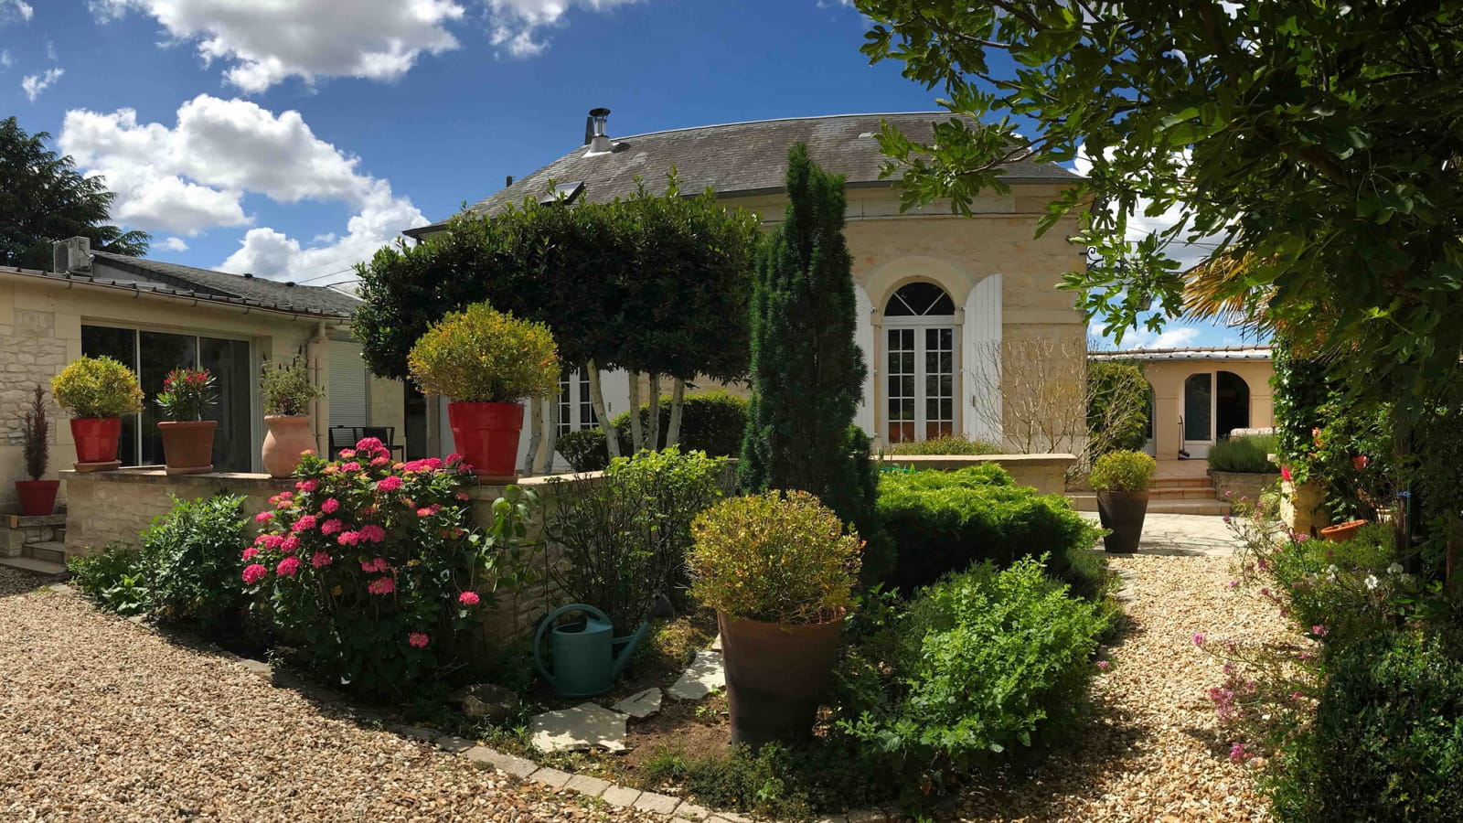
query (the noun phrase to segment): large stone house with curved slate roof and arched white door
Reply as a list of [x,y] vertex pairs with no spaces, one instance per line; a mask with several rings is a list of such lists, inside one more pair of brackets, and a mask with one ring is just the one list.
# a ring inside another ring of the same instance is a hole
[[[1074,296],[1056,288],[1062,272],[1084,265],[1083,249],[1067,240],[1075,220],[1034,236],[1046,204],[1077,182],[1074,173],[1011,163],[1004,177],[1009,190],[983,193],[971,204],[971,217],[952,215],[948,202],[901,211],[900,193],[879,176],[884,155],[875,135],[887,122],[928,139],[947,113],[793,117],[626,138],[609,136],[607,116],[604,108],[591,111],[584,145],[509,179],[467,211],[492,215],[525,198],[553,196],[550,186],[571,206],[626,196],[638,180],[660,192],[676,168],[682,192],[711,187],[727,206],[753,211],[772,227],[787,205],[787,151],[805,142],[812,160],[847,180],[857,343],[869,366],[857,423],[876,445],[951,433],[1009,439],[1002,417],[1012,398],[1001,375],[1012,356],[1030,350],[1023,341],[1075,350],[1065,370],[1071,373],[1053,379],[1081,379],[1086,327]],[[407,234],[424,239],[446,227],[442,220]],[[625,375],[607,375],[604,382],[610,413],[628,409]],[[559,431],[595,426],[588,381],[566,375],[560,385]],[[1058,413],[1080,416],[1080,388],[1065,392],[1072,407]],[[427,414],[429,451],[446,451],[445,411],[429,404]]]

